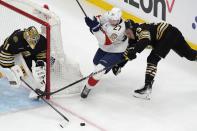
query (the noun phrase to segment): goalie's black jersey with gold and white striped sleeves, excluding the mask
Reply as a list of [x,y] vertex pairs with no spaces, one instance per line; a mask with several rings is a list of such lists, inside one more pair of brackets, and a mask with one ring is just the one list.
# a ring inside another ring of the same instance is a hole
[[31,67],[32,60],[46,61],[46,38],[40,35],[40,39],[35,48],[32,49],[23,36],[24,31],[14,31],[0,47],[0,65],[2,67],[12,67],[16,54],[21,53],[28,65]]

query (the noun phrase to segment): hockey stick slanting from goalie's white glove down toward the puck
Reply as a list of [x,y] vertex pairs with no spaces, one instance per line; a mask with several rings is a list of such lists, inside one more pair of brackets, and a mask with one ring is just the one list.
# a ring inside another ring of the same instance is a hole
[[[34,90],[23,78],[21,78],[21,81],[27,85],[32,91],[34,91],[37,95],[39,95],[40,93],[38,93],[36,90]],[[59,110],[57,110],[52,104],[50,104],[47,100],[45,100],[43,97],[40,97],[47,105],[49,105],[51,108],[53,108],[53,110],[55,110],[60,116],[62,116],[64,118],[64,120],[66,120],[67,122],[69,122],[69,119],[63,115]]]

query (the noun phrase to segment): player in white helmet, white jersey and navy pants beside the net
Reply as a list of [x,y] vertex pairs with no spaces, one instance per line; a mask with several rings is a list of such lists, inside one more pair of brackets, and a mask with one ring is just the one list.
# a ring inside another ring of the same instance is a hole
[[[93,59],[95,72],[124,59],[123,54],[128,46],[128,39],[125,35],[125,22],[121,16],[121,10],[113,8],[103,15],[94,16],[93,19],[85,17],[85,22],[98,40],[99,45]],[[81,93],[81,97],[86,98],[101,77],[110,70],[108,69],[90,77]]]

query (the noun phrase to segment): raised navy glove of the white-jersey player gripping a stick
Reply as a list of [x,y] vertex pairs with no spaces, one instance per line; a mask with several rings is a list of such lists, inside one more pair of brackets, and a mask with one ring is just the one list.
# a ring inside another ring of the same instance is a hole
[[93,32],[97,32],[100,29],[100,23],[97,21],[96,17],[90,19],[89,17],[85,17],[85,22],[88,27],[90,27],[90,30]]

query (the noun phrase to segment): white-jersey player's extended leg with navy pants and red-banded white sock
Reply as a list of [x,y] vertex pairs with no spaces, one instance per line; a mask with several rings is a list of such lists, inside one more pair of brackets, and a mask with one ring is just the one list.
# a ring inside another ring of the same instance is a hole
[[[115,64],[117,61],[120,61],[123,59],[122,53],[107,53],[102,59],[99,60],[99,64],[95,66],[95,72],[98,70],[101,70],[105,67],[109,67],[113,64]],[[108,73],[111,69],[108,69],[106,71],[103,71],[97,75],[94,75],[90,77],[81,93],[82,98],[86,98],[90,92],[91,89],[93,89],[96,84],[99,82],[99,80],[102,78],[102,76],[106,73]]]

